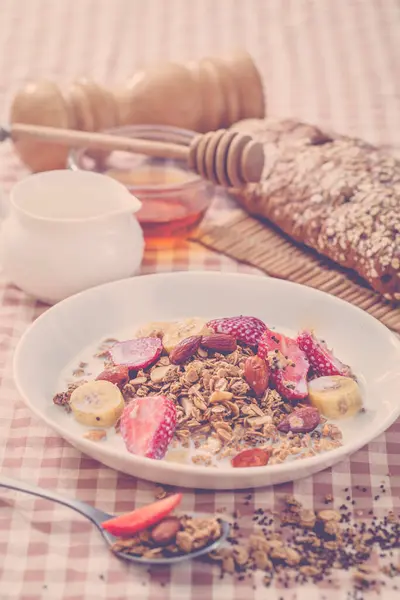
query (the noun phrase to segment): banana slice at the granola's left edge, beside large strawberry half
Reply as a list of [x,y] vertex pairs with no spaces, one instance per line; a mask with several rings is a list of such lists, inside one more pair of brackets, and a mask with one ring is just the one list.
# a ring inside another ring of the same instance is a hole
[[71,394],[70,407],[75,419],[88,427],[112,427],[125,406],[119,388],[110,381],[88,381]]

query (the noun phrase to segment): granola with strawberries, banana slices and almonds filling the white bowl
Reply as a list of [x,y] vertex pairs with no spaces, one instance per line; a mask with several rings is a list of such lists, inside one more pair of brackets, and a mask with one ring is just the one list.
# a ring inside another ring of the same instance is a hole
[[149,323],[131,340],[105,340],[96,359],[96,379],[53,402],[82,424],[113,426],[148,458],[234,468],[308,458],[342,445],[328,418],[362,408],[350,367],[325,342],[255,317]]

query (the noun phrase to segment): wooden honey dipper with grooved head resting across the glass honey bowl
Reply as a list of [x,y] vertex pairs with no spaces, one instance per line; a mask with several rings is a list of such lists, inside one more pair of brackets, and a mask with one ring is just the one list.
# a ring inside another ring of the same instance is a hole
[[124,150],[147,156],[186,161],[189,168],[216,185],[242,187],[258,182],[264,167],[262,144],[249,135],[220,129],[199,134],[189,146],[106,133],[75,131],[14,123],[0,129],[0,141],[36,139],[75,148]]

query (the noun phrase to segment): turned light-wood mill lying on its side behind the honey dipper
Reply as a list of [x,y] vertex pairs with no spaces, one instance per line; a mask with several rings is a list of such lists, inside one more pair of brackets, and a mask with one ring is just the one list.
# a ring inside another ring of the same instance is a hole
[[[12,102],[10,121],[81,131],[160,124],[203,133],[264,113],[260,74],[251,57],[241,53],[160,65],[114,90],[87,78],[66,89],[51,81],[28,83]],[[32,171],[66,165],[68,150],[59,144],[21,137],[15,149]]]

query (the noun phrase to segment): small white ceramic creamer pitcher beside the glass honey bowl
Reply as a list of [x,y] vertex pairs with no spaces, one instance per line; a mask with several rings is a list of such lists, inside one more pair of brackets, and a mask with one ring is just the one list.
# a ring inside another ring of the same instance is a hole
[[133,213],[141,202],[117,181],[89,171],[48,171],[17,183],[0,231],[10,282],[53,304],[133,275],[144,241]]

